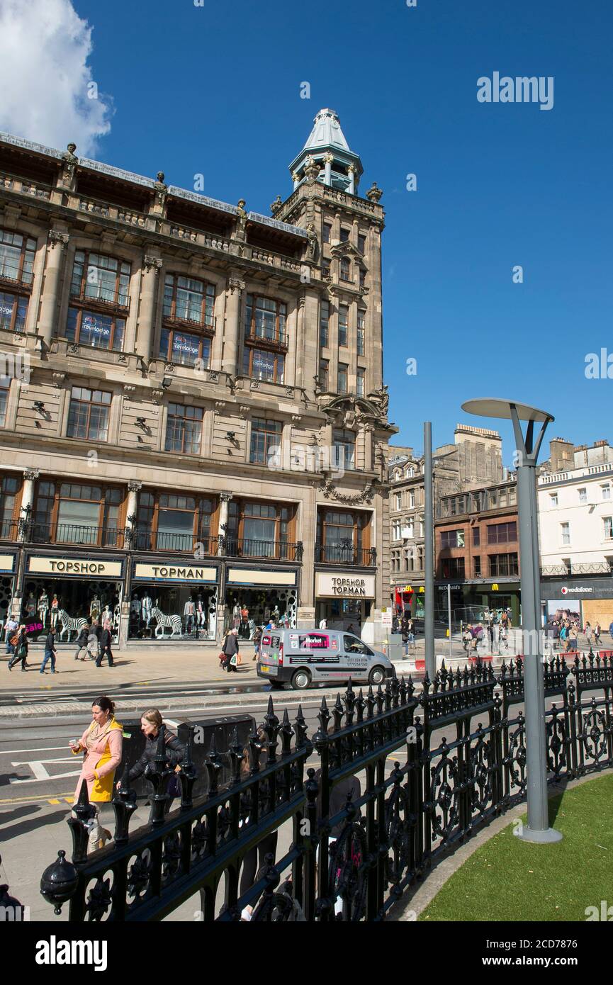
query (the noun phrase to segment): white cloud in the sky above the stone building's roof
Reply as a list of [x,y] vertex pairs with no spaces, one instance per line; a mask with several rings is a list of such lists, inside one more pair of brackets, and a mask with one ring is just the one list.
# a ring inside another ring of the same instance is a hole
[[71,0],[0,0],[0,130],[91,157],[111,100],[90,99],[92,28]]

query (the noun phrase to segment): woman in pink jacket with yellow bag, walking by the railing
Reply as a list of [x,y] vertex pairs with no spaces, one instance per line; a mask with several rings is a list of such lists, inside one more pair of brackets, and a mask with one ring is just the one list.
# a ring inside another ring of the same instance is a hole
[[75,800],[79,799],[81,784],[88,785],[90,803],[96,808],[96,816],[90,829],[88,851],[102,848],[111,837],[110,831],[101,827],[99,805],[112,798],[113,776],[121,762],[123,730],[114,717],[114,704],[108,697],[97,697],[92,705],[92,724],[85,730],[79,742],[71,741],[74,755],[84,753],[83,767],[77,782]]

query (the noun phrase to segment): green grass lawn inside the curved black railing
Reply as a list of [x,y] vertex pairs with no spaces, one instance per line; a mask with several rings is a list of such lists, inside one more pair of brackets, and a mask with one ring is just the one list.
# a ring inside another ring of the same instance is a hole
[[613,776],[550,800],[549,822],[562,841],[521,841],[511,823],[447,880],[419,919],[584,921],[587,906],[600,910],[602,899],[613,906]]

